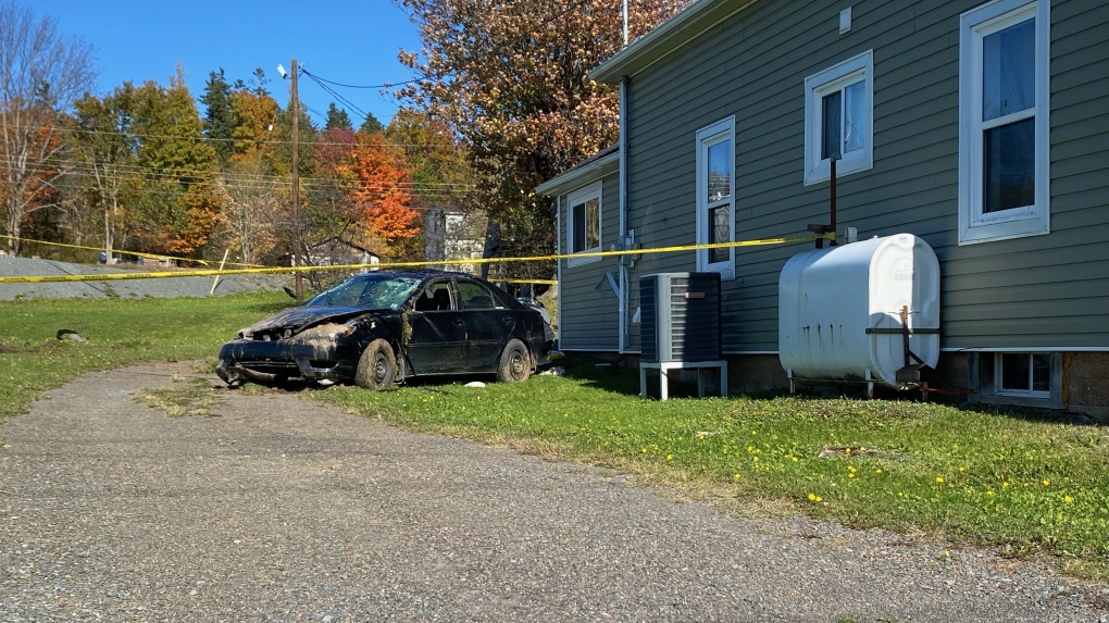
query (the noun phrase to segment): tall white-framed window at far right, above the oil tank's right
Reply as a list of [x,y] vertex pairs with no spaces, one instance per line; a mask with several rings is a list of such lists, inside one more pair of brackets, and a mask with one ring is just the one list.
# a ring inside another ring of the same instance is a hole
[[964,13],[959,244],[1050,232],[1047,0]]

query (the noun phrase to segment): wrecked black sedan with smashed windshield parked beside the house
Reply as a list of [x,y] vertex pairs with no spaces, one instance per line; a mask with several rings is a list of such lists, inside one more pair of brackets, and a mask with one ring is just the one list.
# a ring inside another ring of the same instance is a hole
[[373,272],[238,331],[216,374],[231,386],[304,379],[383,389],[466,374],[513,382],[547,362],[553,340],[545,315],[484,279]]

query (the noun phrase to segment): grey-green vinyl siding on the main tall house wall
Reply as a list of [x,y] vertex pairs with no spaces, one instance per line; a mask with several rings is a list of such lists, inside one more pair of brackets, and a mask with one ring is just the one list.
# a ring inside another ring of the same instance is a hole
[[[874,167],[838,180],[841,233],[932,245],[944,348],[1109,348],[1109,4],[1051,2],[1051,233],[959,246],[959,16],[983,3],[854,2],[841,35],[845,2],[759,1],[631,75],[637,242],[693,243],[695,133],[732,115],[736,239],[827,223],[828,184],[803,183],[804,80],[873,50]],[[725,353],[777,350],[779,274],[811,245],[736,251],[736,278],[722,284]],[[629,289],[640,275],[694,268],[692,252],[648,255]]]

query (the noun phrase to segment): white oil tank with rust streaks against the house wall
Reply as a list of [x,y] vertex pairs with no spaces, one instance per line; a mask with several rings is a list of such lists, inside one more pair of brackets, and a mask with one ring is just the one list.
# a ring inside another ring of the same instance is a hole
[[903,308],[914,329],[909,350],[935,367],[939,261],[912,234],[794,255],[779,279],[782,367],[798,380],[873,380],[902,389]]

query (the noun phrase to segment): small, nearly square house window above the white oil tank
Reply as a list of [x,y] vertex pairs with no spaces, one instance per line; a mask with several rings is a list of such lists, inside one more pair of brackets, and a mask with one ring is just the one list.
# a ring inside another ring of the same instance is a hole
[[874,166],[874,52],[805,79],[805,184]]

